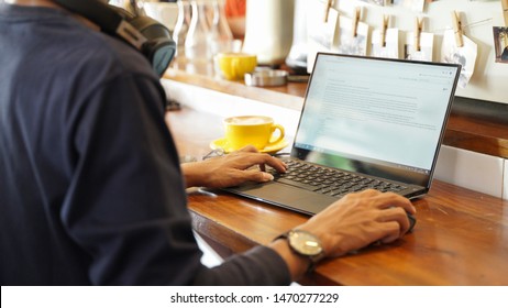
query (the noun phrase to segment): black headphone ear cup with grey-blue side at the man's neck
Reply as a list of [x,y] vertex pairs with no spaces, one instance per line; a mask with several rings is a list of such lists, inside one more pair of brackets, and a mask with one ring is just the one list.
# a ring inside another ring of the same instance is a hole
[[162,76],[176,51],[170,31],[148,16],[135,16],[129,22],[146,37],[142,53],[150,59],[155,72]]

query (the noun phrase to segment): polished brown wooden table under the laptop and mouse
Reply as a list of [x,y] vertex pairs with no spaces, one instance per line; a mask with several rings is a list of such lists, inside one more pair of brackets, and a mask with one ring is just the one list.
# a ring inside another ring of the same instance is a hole
[[[180,155],[201,157],[221,136],[221,119],[185,109],[166,116]],[[508,285],[508,201],[435,180],[413,201],[418,222],[393,244],[322,262],[310,285]],[[194,228],[227,256],[308,217],[222,191],[189,193]]]

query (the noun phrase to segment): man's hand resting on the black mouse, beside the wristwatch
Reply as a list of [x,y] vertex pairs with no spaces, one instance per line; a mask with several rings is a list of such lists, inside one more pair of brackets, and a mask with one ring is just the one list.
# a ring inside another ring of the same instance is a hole
[[393,242],[409,230],[412,204],[394,193],[374,189],[350,194],[298,229],[317,235],[327,256],[340,256],[373,242]]

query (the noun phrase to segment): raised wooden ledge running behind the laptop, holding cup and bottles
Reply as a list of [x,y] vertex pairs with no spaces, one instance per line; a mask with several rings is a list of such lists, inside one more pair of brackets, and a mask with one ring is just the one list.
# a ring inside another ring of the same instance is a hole
[[[289,82],[284,87],[270,88],[247,87],[242,81],[227,81],[213,76],[211,66],[188,73],[179,69],[181,65],[175,64],[166,72],[165,78],[301,110],[307,82]],[[508,158],[508,105],[455,98],[443,143]]]

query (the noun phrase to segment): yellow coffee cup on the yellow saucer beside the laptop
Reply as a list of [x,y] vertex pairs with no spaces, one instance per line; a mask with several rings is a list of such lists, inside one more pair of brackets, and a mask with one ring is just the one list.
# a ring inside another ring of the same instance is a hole
[[[224,119],[228,151],[252,144],[257,150],[274,145],[284,139],[284,128],[265,116],[241,116]],[[275,132],[278,131],[278,134]]]

